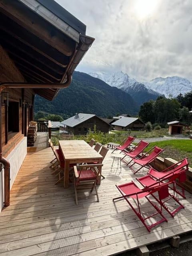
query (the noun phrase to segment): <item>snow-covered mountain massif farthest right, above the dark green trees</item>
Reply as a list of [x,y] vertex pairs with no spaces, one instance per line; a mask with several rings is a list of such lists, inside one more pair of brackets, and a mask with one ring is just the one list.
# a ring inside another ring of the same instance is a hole
[[147,88],[163,93],[167,98],[176,98],[180,93],[183,95],[192,90],[192,83],[179,76],[158,77],[145,83]]

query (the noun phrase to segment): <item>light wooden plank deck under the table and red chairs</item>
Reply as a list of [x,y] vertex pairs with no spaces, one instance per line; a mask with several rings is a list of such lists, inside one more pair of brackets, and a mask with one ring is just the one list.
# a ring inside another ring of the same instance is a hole
[[[0,214],[0,256],[108,256],[164,240],[192,230],[192,196],[181,199],[185,209],[174,218],[166,212],[168,223],[153,228],[150,233],[130,209],[125,200],[113,203],[120,196],[115,184],[141,176],[134,175],[122,163],[108,155],[102,174],[106,176],[98,188],[100,202],[82,191],[78,206],[73,184],[64,189],[54,185],[49,162],[51,148],[28,153],[11,190],[11,205]],[[143,204],[143,210],[152,208]]]

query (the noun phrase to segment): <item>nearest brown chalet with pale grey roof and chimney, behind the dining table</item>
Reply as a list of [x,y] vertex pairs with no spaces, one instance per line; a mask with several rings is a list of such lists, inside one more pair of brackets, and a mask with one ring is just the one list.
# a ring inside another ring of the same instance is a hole
[[110,124],[99,118],[94,114],[83,114],[76,113],[64,121],[61,124],[65,125],[65,130],[72,132],[74,135],[87,134],[88,130],[94,130],[94,125],[96,125],[96,130],[101,132],[109,132]]

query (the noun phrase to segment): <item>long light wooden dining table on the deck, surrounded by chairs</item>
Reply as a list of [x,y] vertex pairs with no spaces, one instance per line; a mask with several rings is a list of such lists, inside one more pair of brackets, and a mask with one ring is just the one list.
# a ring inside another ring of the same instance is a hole
[[[65,160],[64,188],[69,186],[69,165],[78,163],[102,163],[102,156],[84,140],[59,140],[59,149]],[[98,183],[100,184],[100,180]]]

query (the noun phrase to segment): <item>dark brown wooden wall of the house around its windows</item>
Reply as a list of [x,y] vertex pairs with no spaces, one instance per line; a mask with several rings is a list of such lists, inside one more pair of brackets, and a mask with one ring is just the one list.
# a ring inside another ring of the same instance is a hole
[[[7,52],[0,45],[0,83],[3,82],[25,82],[24,77],[14,64],[14,62],[10,59]],[[32,89],[9,89],[6,88],[2,91],[2,98],[6,99],[6,94],[8,93],[9,101],[19,102],[19,132],[16,135],[20,135],[20,138],[24,136],[24,130],[22,126],[26,123],[26,132],[28,130],[28,116],[29,116],[29,104],[33,104],[33,96],[34,91]],[[25,104],[23,104],[25,102]],[[22,120],[24,118],[24,107],[26,108],[26,120]],[[6,155],[6,148],[10,148],[10,141],[6,143],[6,112],[7,106],[2,106],[2,146],[3,146],[3,154]],[[23,134],[23,136],[22,136]],[[25,134],[26,135],[26,134]],[[18,137],[18,136],[17,136]],[[19,141],[18,141],[19,142]],[[18,143],[16,142],[16,144]],[[11,142],[14,146],[15,143]],[[10,152],[10,150],[9,150]]]

